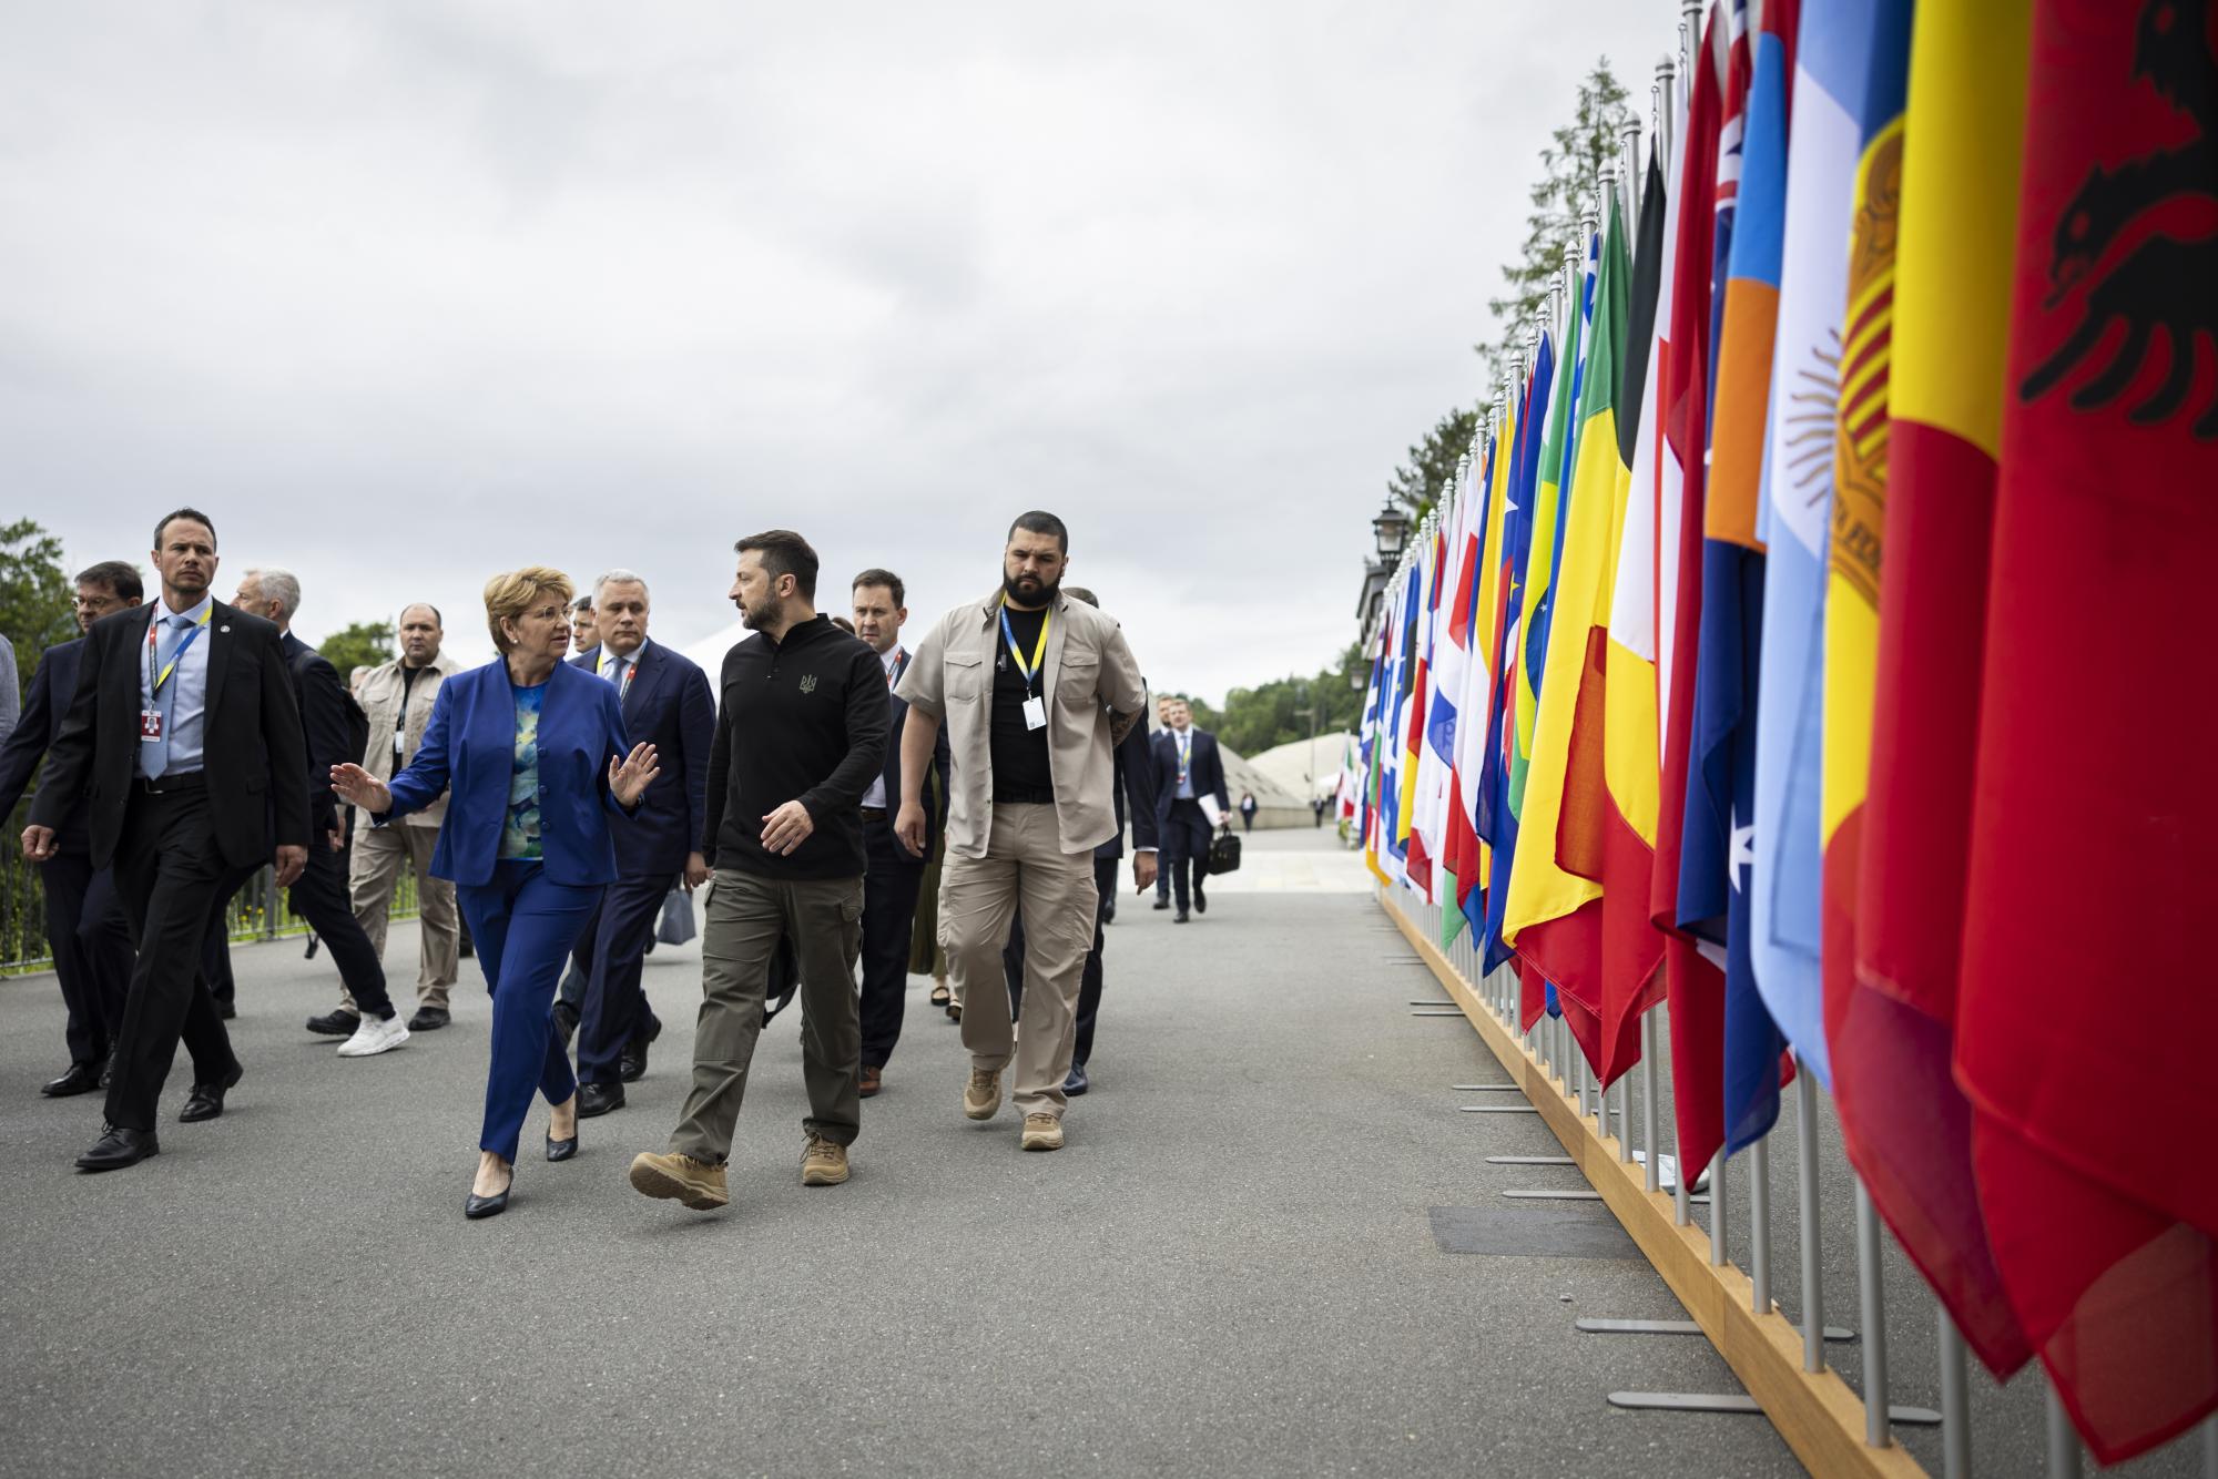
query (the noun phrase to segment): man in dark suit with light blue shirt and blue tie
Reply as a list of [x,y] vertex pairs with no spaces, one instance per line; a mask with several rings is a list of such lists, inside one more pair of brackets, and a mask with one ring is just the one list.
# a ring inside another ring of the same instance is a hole
[[[208,594],[215,526],[191,508],[153,530],[162,599],[93,623],[78,694],[47,752],[22,851],[47,863],[71,803],[91,803],[93,867],[115,865],[138,962],[115,1031],[106,1131],[84,1171],[135,1166],[177,1038],[193,1055],[182,1120],[213,1120],[240,1060],[200,980],[200,945],[237,871],[308,863],[308,758],[279,632]],[[273,834],[275,832],[275,845]]]

